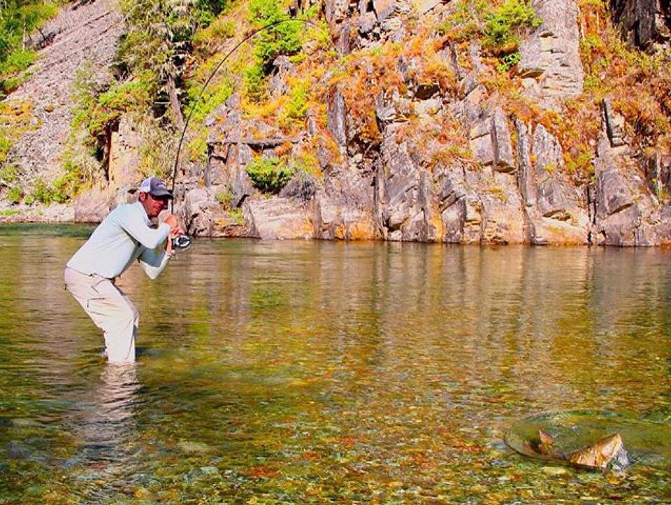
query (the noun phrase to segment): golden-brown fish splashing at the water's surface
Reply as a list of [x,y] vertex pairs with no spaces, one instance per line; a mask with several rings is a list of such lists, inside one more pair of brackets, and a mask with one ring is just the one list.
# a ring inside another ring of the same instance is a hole
[[539,454],[565,460],[582,467],[621,471],[632,464],[619,433],[604,436],[603,439],[598,439],[591,446],[567,454],[558,448],[554,438],[549,433],[539,429],[538,440],[535,441],[534,445]]

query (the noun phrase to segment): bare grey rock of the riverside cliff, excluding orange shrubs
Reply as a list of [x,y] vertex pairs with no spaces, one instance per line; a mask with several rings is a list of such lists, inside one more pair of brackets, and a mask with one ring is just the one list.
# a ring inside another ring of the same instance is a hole
[[[577,6],[574,0],[536,0],[542,24],[521,45],[519,73],[527,99],[556,110],[582,92]],[[428,12],[436,2],[326,1],[326,17],[343,54],[376,41],[395,40],[409,12]],[[347,37],[343,38],[344,31]],[[595,149],[593,183],[577,184],[561,143],[542,124],[524,122],[490,100],[479,83],[479,46],[468,54],[452,45],[438,52],[456,83],[454,94],[421,78],[421,61],[399,57],[403,91],[388,87],[374,97],[379,139],[361,139],[347,92],[335,84],[325,101],[325,125],[308,120],[304,136],[283,137],[257,120],[245,120],[236,97],[219,111],[210,134],[205,170],[209,197],[187,221],[196,233],[227,234],[213,225],[222,206],[212,194],[229,188],[231,206],[245,218],[245,234],[263,239],[384,239],[448,243],[532,243],[651,246],[670,243],[671,215],[654,192],[671,187],[671,159],[642,167],[630,152],[623,118],[603,102],[602,136]],[[469,61],[469,66],[460,62]],[[278,62],[282,68],[287,62]],[[324,78],[328,81],[329,74]],[[273,93],[282,93],[273,78]],[[279,90],[279,91],[278,91]],[[414,123],[408,123],[414,118]],[[442,124],[463,126],[470,157],[449,154]],[[357,122],[359,121],[359,122]],[[414,134],[413,130],[427,135]],[[433,134],[431,132],[433,131]],[[324,142],[329,138],[329,142]],[[296,178],[280,195],[261,195],[245,166],[254,157],[301,152],[317,141],[322,178]],[[189,195],[201,194],[191,190]],[[190,201],[190,203],[189,203]],[[218,214],[217,214],[218,213]],[[194,217],[196,216],[196,217]],[[207,216],[210,216],[209,218]],[[203,220],[208,225],[203,225]]]

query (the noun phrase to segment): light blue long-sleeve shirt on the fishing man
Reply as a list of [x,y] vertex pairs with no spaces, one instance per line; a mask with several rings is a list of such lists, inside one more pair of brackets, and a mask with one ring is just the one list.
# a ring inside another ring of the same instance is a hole
[[68,261],[68,266],[87,275],[97,273],[111,279],[139,259],[147,276],[155,279],[168,264],[169,255],[158,248],[169,233],[170,226],[166,223],[152,228],[139,201],[120,205],[98,225]]

